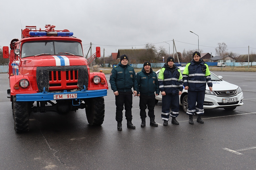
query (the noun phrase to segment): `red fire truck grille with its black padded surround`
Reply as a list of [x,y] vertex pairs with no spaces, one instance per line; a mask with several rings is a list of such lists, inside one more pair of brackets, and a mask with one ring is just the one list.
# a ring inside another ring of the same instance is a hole
[[40,92],[63,91],[88,87],[86,66],[37,67],[37,85]]

